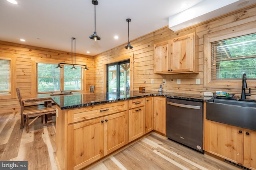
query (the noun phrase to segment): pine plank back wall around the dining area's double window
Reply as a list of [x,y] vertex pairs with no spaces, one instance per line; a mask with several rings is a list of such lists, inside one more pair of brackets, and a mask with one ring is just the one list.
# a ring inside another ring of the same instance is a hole
[[[44,49],[4,41],[0,41],[0,53],[5,56],[16,56],[16,86],[20,88],[22,96],[36,94],[36,88],[32,87],[32,80],[36,75],[35,71],[32,72],[32,60],[51,61],[56,62],[56,64],[59,62],[72,63],[71,52]],[[88,55],[76,54],[76,64],[86,64],[89,68],[89,70],[86,70],[86,80],[84,80],[86,91],[89,92],[90,85],[94,83],[94,58]],[[0,114],[14,111],[20,111],[18,99],[0,98]]]

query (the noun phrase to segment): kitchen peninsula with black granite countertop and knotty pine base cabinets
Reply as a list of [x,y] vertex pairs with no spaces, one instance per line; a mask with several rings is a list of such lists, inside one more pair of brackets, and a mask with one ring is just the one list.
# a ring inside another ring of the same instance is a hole
[[204,101],[201,95],[138,91],[52,96],[59,168],[86,167],[153,129],[166,135],[166,97]]

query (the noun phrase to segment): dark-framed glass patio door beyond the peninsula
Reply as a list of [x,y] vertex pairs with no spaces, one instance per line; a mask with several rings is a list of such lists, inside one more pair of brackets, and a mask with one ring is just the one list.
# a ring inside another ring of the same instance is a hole
[[130,91],[130,60],[107,64],[107,92]]

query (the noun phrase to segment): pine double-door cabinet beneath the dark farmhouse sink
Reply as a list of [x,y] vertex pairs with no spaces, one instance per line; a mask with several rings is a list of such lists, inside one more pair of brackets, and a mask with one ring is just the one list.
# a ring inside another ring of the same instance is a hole
[[205,151],[256,169],[256,131],[209,120],[205,129]]

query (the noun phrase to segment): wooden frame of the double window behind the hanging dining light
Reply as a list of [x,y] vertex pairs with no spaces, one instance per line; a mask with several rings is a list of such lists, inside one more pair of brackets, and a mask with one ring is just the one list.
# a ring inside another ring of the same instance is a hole
[[[61,92],[62,90],[64,90],[64,70],[60,71],[60,91],[49,91],[49,92],[38,92],[37,89],[37,70],[36,70],[36,64],[37,63],[44,63],[44,64],[56,64],[58,65],[58,62],[56,61],[43,61],[43,60],[38,60],[38,59],[34,59],[32,58],[32,72],[34,72],[35,77],[32,77],[32,95],[36,95],[36,94],[45,94],[45,93],[51,93],[51,92]],[[61,64],[61,66],[63,67],[63,65],[65,64]],[[69,64],[66,64],[69,65]],[[72,66],[70,66],[72,67]],[[60,69],[64,69],[64,68],[60,68]],[[86,82],[84,82],[85,78],[86,78],[86,73],[84,73],[84,71],[81,69],[81,90],[72,90],[72,92],[80,92],[80,91],[85,91],[85,86],[84,84]]]

